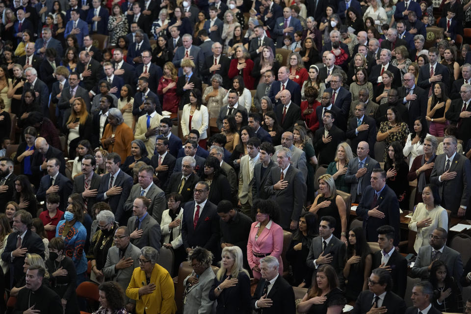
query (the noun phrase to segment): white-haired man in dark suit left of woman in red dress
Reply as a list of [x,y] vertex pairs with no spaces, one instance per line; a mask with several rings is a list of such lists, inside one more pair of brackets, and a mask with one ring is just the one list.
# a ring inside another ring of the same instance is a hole
[[229,72],[229,66],[231,65],[231,59],[222,55],[222,45],[219,42],[215,42],[211,47],[212,55],[205,58],[205,63],[200,75],[203,77],[203,81],[206,84],[211,84],[211,77],[214,74],[219,74],[222,77],[222,84],[224,88],[231,89],[231,80],[227,76]]

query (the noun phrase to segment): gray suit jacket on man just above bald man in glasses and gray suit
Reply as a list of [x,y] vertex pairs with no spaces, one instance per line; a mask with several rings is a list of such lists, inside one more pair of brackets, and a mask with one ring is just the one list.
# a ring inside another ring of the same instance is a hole
[[[136,230],[136,216],[131,216],[128,220],[129,232],[132,233]],[[141,237],[136,239],[131,239],[131,243],[142,249],[144,246],[152,246],[153,248],[160,251],[160,225],[158,222],[151,217],[149,213],[144,217],[141,223],[141,228],[139,230],[143,231]]]

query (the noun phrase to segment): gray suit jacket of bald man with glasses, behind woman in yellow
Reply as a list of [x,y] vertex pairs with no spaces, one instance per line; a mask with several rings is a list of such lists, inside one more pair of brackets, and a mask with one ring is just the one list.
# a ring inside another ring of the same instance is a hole
[[[102,272],[103,275],[105,275],[106,280],[116,281],[121,286],[121,288],[126,291],[129,282],[131,281],[132,272],[134,271],[134,268],[139,267],[139,256],[141,255],[141,250],[138,247],[129,243],[128,247],[126,248],[126,251],[124,252],[123,258],[131,258],[133,263],[127,268],[116,270],[115,266],[120,260],[119,255],[120,252],[118,247],[110,247],[108,250],[108,255],[106,256],[106,262],[105,266],[102,269]],[[129,299],[128,297],[126,298],[128,299],[128,302],[136,302]]]

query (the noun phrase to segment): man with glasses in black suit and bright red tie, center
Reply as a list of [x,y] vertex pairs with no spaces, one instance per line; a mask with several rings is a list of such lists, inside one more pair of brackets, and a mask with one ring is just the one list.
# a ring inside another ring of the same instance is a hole
[[187,202],[183,207],[183,247],[189,253],[193,247],[201,246],[216,257],[220,251],[219,215],[216,205],[208,200],[208,195],[208,183],[200,181],[194,187],[194,201]]

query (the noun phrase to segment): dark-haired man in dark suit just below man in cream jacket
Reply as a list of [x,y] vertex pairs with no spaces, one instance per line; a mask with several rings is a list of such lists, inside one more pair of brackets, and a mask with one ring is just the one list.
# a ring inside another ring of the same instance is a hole
[[168,152],[169,141],[166,137],[158,137],[156,142],[156,153],[152,156],[151,165],[156,170],[158,187],[162,190],[167,188],[168,179],[175,168],[176,158]]

